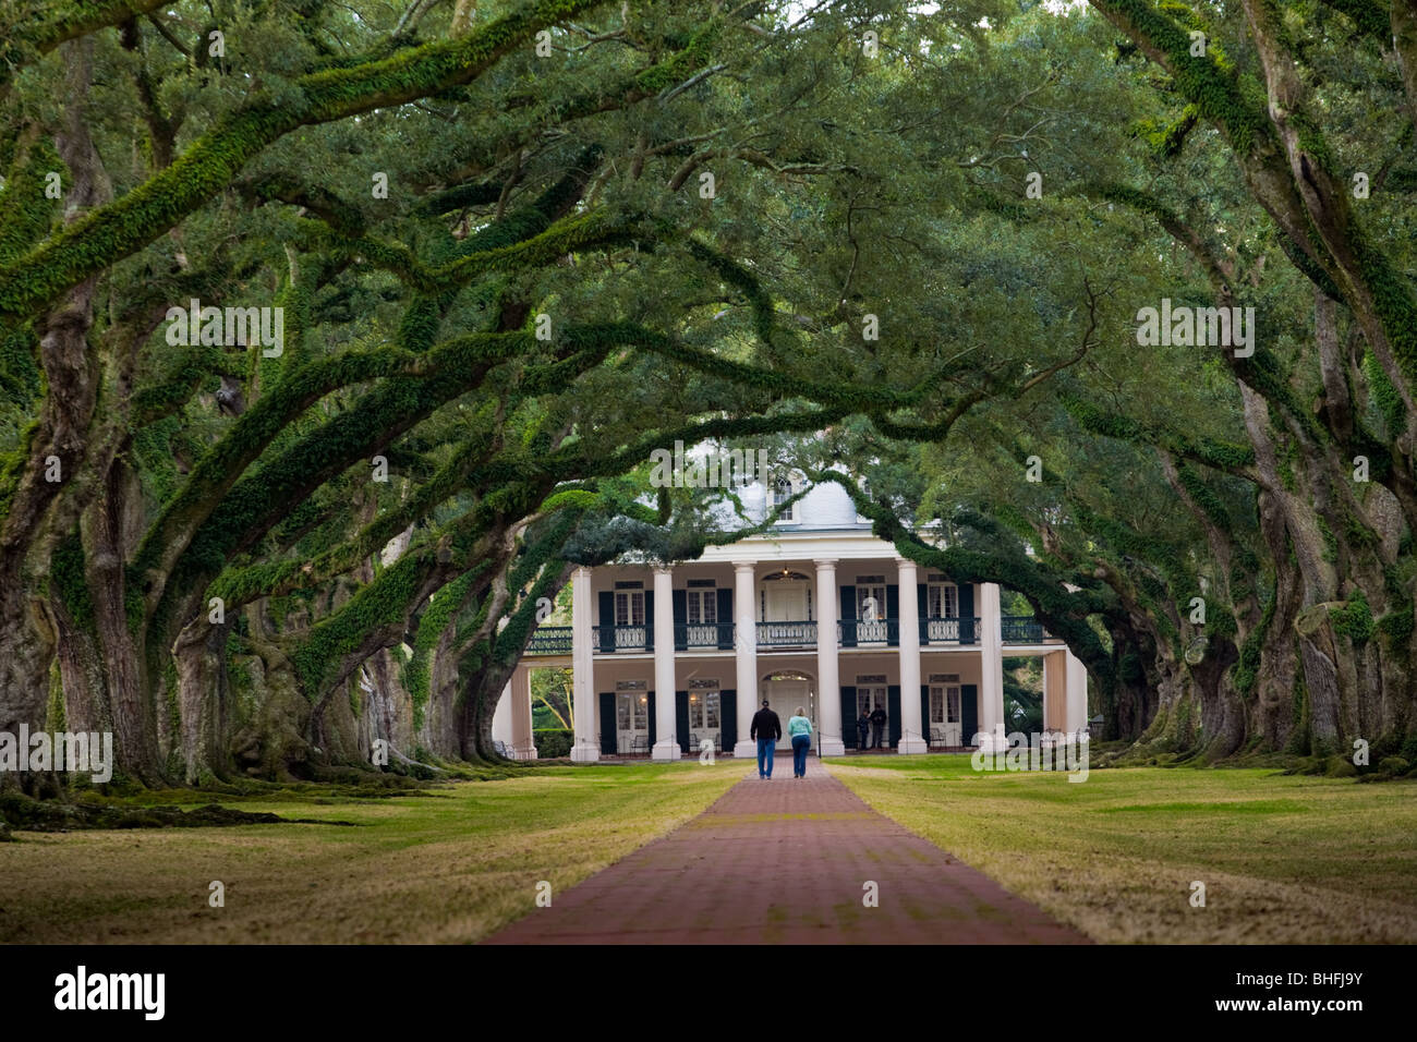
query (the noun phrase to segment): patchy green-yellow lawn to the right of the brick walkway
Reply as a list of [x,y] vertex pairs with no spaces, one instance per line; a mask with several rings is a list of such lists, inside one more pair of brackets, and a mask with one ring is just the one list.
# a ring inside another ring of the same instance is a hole
[[[881,814],[1098,941],[1417,941],[1417,784],[829,760]],[[1192,907],[1192,882],[1206,906]]]

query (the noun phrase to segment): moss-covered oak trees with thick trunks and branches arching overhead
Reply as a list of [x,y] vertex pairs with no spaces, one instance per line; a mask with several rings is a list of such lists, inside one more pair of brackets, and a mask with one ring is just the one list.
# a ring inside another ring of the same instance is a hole
[[1417,743],[1403,0],[0,30],[0,730],[496,758],[575,564],[741,537],[649,479],[717,439],[1023,597],[1142,753]]

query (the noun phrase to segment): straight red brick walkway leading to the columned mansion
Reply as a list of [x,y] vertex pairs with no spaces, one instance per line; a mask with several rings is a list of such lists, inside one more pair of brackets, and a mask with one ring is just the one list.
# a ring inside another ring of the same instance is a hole
[[[772,781],[750,770],[697,818],[486,943],[1087,943],[873,811],[818,760],[801,781],[791,754]],[[863,904],[866,880],[877,907]]]

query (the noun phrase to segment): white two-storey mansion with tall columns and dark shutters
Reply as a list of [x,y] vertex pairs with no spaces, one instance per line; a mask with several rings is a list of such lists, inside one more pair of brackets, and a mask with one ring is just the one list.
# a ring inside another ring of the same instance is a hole
[[[789,495],[778,482],[775,498]],[[761,519],[762,485],[741,496]],[[699,560],[578,568],[571,604],[571,625],[537,631],[497,706],[493,736],[519,758],[536,756],[530,673],[543,666],[572,668],[578,763],[674,760],[704,741],[752,757],[748,723],[762,699],[784,732],[805,706],[823,756],[857,747],[857,719],[876,707],[901,753],[1002,746],[1005,655],[1043,658],[1044,730],[1087,726],[1087,672],[1061,641],[1002,615],[996,584],[904,560],[830,483],[769,534]]]

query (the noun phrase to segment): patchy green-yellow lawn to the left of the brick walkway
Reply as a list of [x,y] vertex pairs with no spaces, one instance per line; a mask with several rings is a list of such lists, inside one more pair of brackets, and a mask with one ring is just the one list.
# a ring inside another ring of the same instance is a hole
[[[16,834],[3,943],[458,943],[700,814],[744,764],[543,767],[436,795],[241,801],[340,825]],[[225,907],[208,906],[213,880]]]

